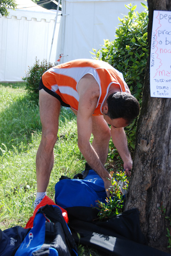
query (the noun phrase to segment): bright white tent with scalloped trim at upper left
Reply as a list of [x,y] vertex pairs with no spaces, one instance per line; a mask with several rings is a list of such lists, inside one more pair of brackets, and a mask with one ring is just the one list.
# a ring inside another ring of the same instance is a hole
[[[31,0],[17,0],[17,9],[0,17],[0,81],[22,81],[35,58],[49,61],[56,11]],[[60,16],[54,34],[50,62],[56,61]]]

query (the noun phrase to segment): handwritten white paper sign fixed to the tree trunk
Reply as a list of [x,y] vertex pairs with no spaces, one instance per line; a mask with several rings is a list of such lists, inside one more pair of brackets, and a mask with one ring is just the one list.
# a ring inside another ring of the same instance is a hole
[[154,11],[150,55],[151,97],[171,98],[171,12]]

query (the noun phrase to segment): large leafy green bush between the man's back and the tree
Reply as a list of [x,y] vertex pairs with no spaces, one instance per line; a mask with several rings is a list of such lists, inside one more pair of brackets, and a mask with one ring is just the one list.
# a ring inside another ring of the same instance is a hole
[[[145,9],[147,6],[142,4]],[[114,41],[104,40],[101,49],[93,49],[95,59],[108,62],[123,73],[125,82],[141,105],[142,87],[145,76],[145,66],[148,57],[147,26],[148,12],[134,12],[137,6],[131,3],[125,7],[129,10],[128,15],[118,18],[120,24],[116,29],[116,39]],[[136,132],[136,120],[125,128],[128,145],[134,149]]]

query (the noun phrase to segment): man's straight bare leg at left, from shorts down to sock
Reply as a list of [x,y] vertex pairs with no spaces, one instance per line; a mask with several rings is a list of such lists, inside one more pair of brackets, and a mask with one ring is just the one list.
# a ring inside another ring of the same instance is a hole
[[46,192],[54,165],[54,144],[57,140],[60,101],[40,90],[40,120],[42,139],[36,156],[37,192]]

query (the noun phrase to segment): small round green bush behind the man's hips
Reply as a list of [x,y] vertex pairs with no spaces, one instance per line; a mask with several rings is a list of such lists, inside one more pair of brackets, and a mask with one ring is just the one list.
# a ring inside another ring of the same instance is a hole
[[32,67],[28,67],[26,72],[26,77],[23,78],[26,81],[26,90],[31,98],[31,100],[38,103],[39,101],[39,82],[43,73],[48,70],[48,68],[53,67],[50,62],[48,63],[46,59],[43,61],[37,60]]

